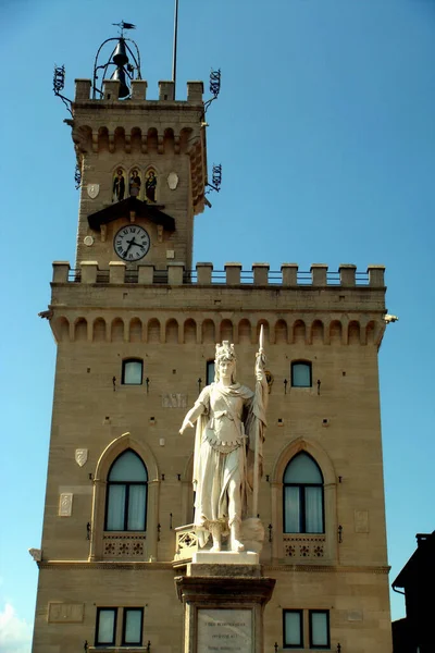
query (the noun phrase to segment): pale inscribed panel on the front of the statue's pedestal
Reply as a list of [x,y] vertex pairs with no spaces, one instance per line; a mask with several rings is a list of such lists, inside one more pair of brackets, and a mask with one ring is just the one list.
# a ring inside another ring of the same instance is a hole
[[251,609],[198,609],[198,653],[252,653]]

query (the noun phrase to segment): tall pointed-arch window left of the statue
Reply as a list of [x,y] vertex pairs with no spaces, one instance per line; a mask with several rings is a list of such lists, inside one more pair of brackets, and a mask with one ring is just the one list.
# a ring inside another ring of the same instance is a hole
[[108,476],[107,531],[145,531],[148,472],[132,449],[116,458]]

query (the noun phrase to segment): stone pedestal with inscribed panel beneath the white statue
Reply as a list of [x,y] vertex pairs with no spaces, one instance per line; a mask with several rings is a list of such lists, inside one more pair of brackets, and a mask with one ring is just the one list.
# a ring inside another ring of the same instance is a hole
[[183,653],[263,653],[263,611],[275,579],[262,576],[257,554],[198,552],[175,584]]

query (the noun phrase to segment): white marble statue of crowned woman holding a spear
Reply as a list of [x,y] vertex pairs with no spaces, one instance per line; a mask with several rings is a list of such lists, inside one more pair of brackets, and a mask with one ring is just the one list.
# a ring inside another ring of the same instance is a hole
[[[256,360],[256,392],[236,382],[234,345],[216,345],[214,383],[207,385],[187,412],[181,433],[197,421],[194,457],[195,528],[204,546],[211,533],[212,551],[221,551],[222,535],[231,535],[231,550],[244,550],[240,523],[254,458],[261,456],[265,427],[268,383],[264,356]],[[254,516],[257,517],[257,515]]]

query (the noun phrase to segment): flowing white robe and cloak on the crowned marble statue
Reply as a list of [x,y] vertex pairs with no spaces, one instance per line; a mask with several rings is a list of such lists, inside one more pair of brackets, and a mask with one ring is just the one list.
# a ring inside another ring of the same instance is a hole
[[[261,382],[257,382],[254,393],[238,383],[212,383],[196,402],[203,408],[197,420],[194,456],[194,523],[201,546],[214,523],[220,525],[222,534],[227,534],[231,525],[246,515],[256,446],[261,459],[264,392],[268,390]],[[237,501],[232,505],[231,483],[237,486]]]

